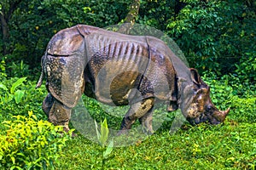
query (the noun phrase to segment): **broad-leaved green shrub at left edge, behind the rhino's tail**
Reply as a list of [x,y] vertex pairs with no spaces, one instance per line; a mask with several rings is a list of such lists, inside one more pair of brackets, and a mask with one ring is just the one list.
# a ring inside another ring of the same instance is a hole
[[4,82],[0,82],[1,115],[27,115],[28,111],[34,111],[38,118],[46,118],[41,109],[46,90],[35,89],[35,86],[36,82],[26,80],[26,77],[6,78]]

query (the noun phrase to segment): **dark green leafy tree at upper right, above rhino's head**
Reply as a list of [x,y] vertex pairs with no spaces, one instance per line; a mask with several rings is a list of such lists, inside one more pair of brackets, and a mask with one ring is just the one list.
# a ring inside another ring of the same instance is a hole
[[[256,14],[241,1],[183,1],[186,5],[169,20],[168,34],[197,69],[218,74],[234,71],[241,55],[255,52]],[[227,62],[228,60],[228,62]]]

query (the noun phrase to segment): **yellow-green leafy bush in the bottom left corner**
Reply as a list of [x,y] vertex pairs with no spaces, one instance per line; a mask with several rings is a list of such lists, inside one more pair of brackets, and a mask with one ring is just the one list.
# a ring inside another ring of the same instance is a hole
[[0,135],[0,167],[4,169],[53,169],[60,163],[60,151],[70,137],[63,127],[38,121],[32,111],[3,122],[7,130]]

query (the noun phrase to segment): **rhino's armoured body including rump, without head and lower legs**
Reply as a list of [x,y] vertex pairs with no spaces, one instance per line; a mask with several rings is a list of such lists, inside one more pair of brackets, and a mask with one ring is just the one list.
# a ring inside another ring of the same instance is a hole
[[[58,32],[50,40],[47,54],[44,70],[49,91],[70,106],[76,104],[73,99],[83,92],[84,82],[86,95],[108,105],[127,105],[140,97],[176,100],[177,78],[189,77],[189,68],[165,42],[93,26]],[[63,82],[64,88],[72,87],[64,98]]]

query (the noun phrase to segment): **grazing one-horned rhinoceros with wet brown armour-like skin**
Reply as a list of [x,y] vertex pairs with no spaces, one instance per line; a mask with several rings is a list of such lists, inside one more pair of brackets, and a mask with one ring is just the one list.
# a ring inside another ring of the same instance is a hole
[[218,111],[210,88],[165,42],[155,37],[131,36],[94,26],[78,25],[51,38],[42,57],[37,88],[46,77],[49,94],[43,110],[49,122],[64,126],[82,94],[107,105],[131,105],[119,132],[139,120],[153,133],[154,104],[167,111],[181,109],[191,124],[224,122],[229,113]]

